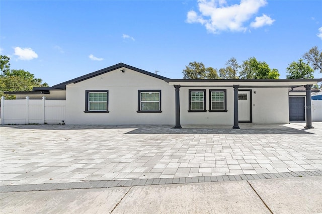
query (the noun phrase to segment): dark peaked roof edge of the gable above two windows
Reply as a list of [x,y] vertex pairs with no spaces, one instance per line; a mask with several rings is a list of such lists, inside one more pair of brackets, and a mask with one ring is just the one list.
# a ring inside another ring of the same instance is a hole
[[118,63],[116,65],[112,65],[110,67],[107,67],[107,68],[104,68],[104,69],[101,69],[101,70],[98,70],[98,71],[95,71],[95,72],[92,72],[92,73],[89,73],[89,74],[86,74],[86,75],[71,79],[71,80],[68,80],[68,81],[65,81],[65,82],[62,82],[60,84],[53,85],[52,87],[57,88],[57,89],[66,89],[66,85],[68,85],[70,83],[81,82],[81,81],[84,81],[86,79],[90,79],[92,77],[95,77],[95,76],[98,76],[98,75],[101,75],[101,74],[104,74],[104,73],[107,73],[107,72],[110,72],[110,71],[113,71],[113,70],[116,70],[116,69],[119,69],[119,68],[123,68],[123,67],[131,69],[131,70],[134,70],[134,71],[137,71],[139,73],[143,73],[143,74],[158,78],[158,79],[162,79],[162,80],[167,80],[168,79],[167,77],[160,76],[160,75],[157,75],[157,74],[154,74],[154,73],[151,73],[151,72],[139,69],[139,68],[135,68],[133,66],[130,66],[130,65],[127,65],[127,64],[124,64],[124,63]]

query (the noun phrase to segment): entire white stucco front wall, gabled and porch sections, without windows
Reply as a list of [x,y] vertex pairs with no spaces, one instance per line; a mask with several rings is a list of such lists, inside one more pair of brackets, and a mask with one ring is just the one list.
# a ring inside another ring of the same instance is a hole
[[[207,112],[188,112],[189,89],[205,89]],[[227,112],[209,112],[209,90],[226,90]],[[288,88],[252,89],[252,122],[288,123]],[[108,90],[109,113],[84,113],[86,90]],[[161,90],[162,113],[137,113],[138,90]],[[254,93],[256,91],[256,93]],[[230,86],[183,86],[180,88],[182,125],[233,125],[233,88]],[[119,69],[66,86],[66,124],[175,124],[175,90],[160,80],[130,69]]]

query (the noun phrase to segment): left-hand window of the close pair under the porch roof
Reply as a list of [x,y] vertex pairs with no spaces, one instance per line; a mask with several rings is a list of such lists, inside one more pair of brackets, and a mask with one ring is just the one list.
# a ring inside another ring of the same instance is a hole
[[189,110],[188,112],[206,112],[206,90],[189,90]]

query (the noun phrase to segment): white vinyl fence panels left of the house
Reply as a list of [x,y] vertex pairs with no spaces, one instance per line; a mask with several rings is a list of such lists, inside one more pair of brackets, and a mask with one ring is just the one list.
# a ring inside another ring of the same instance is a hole
[[1,125],[62,124],[65,121],[66,100],[5,99],[1,97]]

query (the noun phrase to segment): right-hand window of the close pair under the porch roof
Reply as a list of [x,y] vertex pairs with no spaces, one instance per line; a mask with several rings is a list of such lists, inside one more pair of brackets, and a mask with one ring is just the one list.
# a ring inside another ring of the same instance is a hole
[[227,112],[226,90],[209,90],[209,112]]

